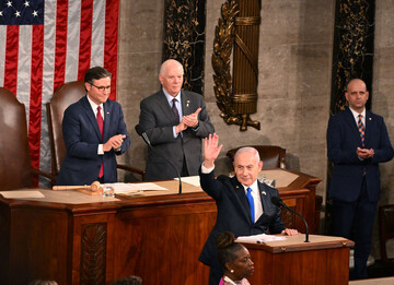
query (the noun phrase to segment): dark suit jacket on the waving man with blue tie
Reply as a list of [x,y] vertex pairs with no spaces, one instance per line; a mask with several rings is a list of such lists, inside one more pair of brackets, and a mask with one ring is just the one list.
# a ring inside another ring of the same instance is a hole
[[274,195],[279,197],[278,190],[258,182],[260,192],[263,215],[252,224],[250,205],[246,199],[244,187],[237,181],[236,176],[219,176],[215,174],[201,174],[200,183],[216,201],[218,207],[217,222],[205,244],[199,261],[209,266],[220,268],[216,238],[223,231],[232,231],[235,237],[251,236],[258,234],[279,234],[286,227],[280,216],[280,209],[270,201]]

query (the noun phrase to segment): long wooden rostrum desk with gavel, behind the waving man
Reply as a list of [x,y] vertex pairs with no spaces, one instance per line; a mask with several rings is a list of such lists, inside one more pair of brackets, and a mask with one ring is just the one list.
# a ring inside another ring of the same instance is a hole
[[[306,218],[315,179],[299,174],[279,188]],[[171,190],[126,200],[44,189],[44,199],[0,195],[1,284],[111,284],[131,274],[144,284],[206,284],[209,269],[198,257],[216,222],[215,201],[187,183],[182,195],[177,181],[158,185]]]

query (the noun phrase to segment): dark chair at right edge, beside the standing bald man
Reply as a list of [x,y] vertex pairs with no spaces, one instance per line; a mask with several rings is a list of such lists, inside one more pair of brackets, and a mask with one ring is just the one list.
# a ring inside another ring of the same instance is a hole
[[389,259],[386,248],[387,240],[394,239],[394,204],[379,207],[379,227],[382,261],[394,270],[394,260]]

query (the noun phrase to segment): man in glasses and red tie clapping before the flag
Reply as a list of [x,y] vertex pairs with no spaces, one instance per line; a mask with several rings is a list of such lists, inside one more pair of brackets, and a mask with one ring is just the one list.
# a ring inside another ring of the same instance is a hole
[[116,182],[116,157],[127,151],[127,134],[121,107],[108,99],[112,74],[104,68],[86,71],[88,92],[70,105],[62,120],[66,157],[56,185]]

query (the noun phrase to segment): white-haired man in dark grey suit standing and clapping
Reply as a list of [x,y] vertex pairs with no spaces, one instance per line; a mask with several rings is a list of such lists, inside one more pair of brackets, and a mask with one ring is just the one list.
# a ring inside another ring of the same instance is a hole
[[164,61],[159,74],[162,90],[140,104],[139,126],[155,150],[148,149],[146,180],[177,177],[163,157],[173,163],[181,176],[198,175],[201,139],[215,132],[202,96],[181,91],[183,74],[178,61]]

